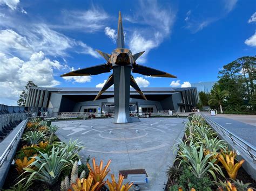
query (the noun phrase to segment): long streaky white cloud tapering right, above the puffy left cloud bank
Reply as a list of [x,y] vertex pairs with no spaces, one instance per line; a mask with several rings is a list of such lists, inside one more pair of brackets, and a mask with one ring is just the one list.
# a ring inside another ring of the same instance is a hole
[[23,35],[11,29],[0,30],[0,51],[23,56],[39,51],[43,51],[46,55],[67,56],[67,51],[73,51],[99,58],[98,53],[90,46],[53,31],[45,24],[24,29],[22,33]]

